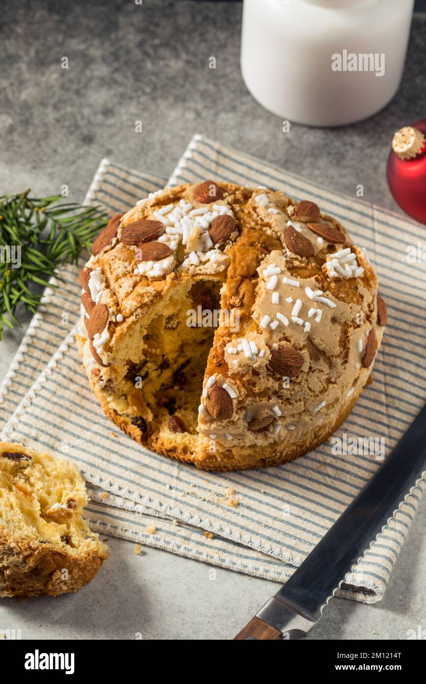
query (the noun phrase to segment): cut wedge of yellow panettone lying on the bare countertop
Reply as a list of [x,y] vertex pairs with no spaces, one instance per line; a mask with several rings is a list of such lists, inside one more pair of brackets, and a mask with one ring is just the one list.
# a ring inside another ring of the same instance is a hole
[[81,517],[83,477],[68,461],[0,442],[0,597],[67,594],[108,555]]

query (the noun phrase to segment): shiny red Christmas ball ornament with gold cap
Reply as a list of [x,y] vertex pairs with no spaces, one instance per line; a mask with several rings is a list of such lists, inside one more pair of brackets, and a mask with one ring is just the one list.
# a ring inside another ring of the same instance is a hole
[[426,224],[426,119],[395,133],[387,174],[401,209]]

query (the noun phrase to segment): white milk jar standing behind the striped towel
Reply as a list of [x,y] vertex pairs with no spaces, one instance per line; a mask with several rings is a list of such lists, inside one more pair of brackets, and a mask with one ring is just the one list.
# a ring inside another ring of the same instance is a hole
[[414,0],[244,0],[241,70],[261,105],[308,126],[341,126],[399,87]]

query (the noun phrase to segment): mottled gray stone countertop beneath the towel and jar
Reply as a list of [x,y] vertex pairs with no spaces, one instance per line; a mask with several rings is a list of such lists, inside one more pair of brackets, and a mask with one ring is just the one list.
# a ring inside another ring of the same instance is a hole
[[[168,176],[198,132],[307,179],[397,209],[386,186],[393,131],[426,115],[426,16],[416,14],[403,83],[386,109],[340,129],[282,133],[239,70],[241,3],[53,0],[2,8],[1,193],[51,195],[66,183],[81,201],[101,157]],[[68,70],[60,68],[63,56]],[[209,57],[217,68],[209,69]],[[142,120],[143,134],[134,131]],[[137,135],[137,137],[135,137]],[[3,378],[25,332],[6,332]],[[420,504],[384,599],[334,599],[309,639],[407,638],[426,627],[426,501]],[[110,539],[111,557],[77,594],[3,599],[0,631],[25,639],[229,639],[278,585],[165,551]]]

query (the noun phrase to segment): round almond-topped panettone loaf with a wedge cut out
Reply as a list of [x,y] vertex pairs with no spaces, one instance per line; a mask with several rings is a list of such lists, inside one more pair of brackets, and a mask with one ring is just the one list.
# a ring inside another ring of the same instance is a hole
[[105,413],[205,470],[289,461],[354,406],[386,324],[377,276],[315,202],[205,181],[112,218],[77,341]]

